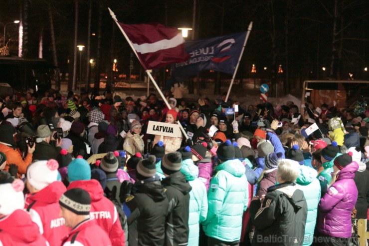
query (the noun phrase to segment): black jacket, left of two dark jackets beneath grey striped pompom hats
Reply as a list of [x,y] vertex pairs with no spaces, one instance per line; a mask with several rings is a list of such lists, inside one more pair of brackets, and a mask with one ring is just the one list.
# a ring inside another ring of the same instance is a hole
[[126,199],[131,210],[128,217],[130,246],[164,246],[169,202],[159,177],[136,182]]

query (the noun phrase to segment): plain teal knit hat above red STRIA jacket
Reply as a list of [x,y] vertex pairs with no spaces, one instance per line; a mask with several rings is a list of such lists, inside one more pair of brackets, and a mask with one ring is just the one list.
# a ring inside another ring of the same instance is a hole
[[91,167],[82,156],[77,156],[76,159],[69,163],[67,169],[69,182],[91,179]]

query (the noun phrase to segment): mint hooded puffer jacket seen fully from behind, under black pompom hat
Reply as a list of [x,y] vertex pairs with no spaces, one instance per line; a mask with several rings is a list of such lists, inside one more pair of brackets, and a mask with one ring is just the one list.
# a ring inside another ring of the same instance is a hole
[[240,240],[248,188],[245,167],[239,160],[225,161],[216,167],[207,200],[209,207],[203,223],[206,236],[225,242]]

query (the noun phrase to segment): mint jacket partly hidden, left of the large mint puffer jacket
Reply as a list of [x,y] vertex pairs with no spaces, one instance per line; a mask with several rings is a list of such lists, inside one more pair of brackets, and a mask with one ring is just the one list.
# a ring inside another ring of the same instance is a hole
[[206,220],[207,194],[205,185],[197,178],[198,167],[191,159],[182,161],[181,172],[192,190],[189,192],[188,245],[198,245],[199,224]]

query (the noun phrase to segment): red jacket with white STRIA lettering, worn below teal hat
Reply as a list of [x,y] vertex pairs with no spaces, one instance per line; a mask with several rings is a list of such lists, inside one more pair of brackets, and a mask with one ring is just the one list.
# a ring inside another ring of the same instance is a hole
[[118,212],[114,204],[104,197],[104,191],[97,180],[73,181],[68,190],[81,188],[91,196],[90,218],[95,219],[97,224],[109,235],[112,246],[124,246],[125,236]]

